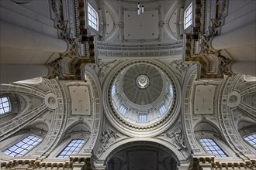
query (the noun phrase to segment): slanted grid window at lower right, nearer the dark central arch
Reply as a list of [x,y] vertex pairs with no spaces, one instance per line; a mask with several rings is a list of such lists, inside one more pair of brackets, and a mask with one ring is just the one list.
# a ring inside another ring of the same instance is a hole
[[216,145],[213,139],[202,138],[200,139],[200,142],[203,147],[206,148],[209,154],[214,154],[216,157],[227,157],[224,151],[218,145]]

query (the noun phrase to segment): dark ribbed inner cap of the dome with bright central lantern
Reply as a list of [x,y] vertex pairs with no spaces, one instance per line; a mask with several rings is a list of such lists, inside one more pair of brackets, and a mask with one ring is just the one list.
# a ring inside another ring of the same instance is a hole
[[154,66],[137,64],[131,66],[123,76],[123,93],[133,104],[151,104],[162,90],[162,76]]

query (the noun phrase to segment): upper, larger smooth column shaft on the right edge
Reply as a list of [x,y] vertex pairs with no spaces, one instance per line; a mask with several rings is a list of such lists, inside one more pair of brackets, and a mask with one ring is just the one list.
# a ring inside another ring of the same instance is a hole
[[210,45],[213,49],[228,49],[230,47],[255,44],[256,22],[234,29],[233,31],[213,37]]

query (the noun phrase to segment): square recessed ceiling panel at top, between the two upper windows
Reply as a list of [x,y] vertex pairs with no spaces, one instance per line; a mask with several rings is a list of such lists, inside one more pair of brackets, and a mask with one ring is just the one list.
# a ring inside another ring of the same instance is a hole
[[124,39],[157,39],[158,11],[124,11]]

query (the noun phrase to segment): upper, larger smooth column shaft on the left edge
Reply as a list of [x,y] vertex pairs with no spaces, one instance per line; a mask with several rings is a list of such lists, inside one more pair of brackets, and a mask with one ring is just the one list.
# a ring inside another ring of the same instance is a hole
[[63,39],[44,35],[3,20],[0,21],[1,47],[12,49],[30,49],[65,53],[68,44]]

